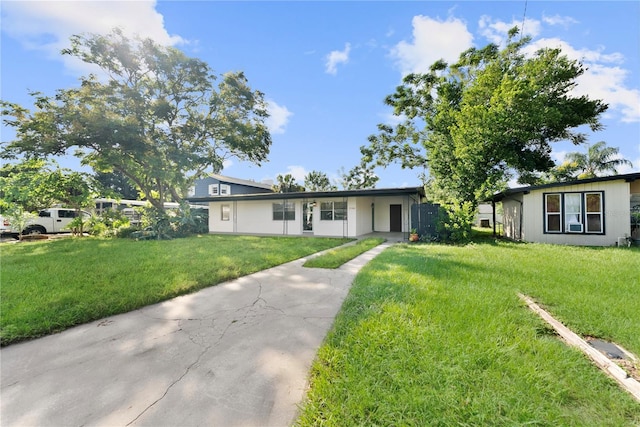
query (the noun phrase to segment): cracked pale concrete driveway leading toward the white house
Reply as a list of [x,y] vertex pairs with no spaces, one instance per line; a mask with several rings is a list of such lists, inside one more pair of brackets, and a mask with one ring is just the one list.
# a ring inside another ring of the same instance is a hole
[[0,424],[288,426],[318,347],[380,245],[305,259],[0,350]]

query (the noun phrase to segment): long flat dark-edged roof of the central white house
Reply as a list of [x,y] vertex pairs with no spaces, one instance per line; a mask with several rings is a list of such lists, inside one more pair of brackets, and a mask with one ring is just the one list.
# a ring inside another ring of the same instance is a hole
[[256,194],[231,194],[229,196],[189,197],[191,202],[226,202],[233,200],[290,200],[313,199],[329,197],[365,197],[365,196],[402,196],[418,194],[424,195],[422,187],[402,188],[368,188],[364,190],[335,190],[335,191],[297,191],[293,193],[256,193]]

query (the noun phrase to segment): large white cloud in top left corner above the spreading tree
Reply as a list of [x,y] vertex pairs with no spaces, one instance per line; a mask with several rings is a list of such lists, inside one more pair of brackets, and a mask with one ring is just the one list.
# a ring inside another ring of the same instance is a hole
[[74,74],[84,74],[86,65],[60,56],[73,34],[106,34],[121,28],[127,35],[151,38],[162,45],[186,43],[164,28],[156,1],[10,1],[2,5],[2,31],[27,49],[39,50],[65,62]]

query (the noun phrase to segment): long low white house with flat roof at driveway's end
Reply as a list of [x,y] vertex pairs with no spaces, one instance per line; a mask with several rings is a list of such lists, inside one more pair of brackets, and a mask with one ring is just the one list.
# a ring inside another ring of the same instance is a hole
[[[197,189],[196,189],[197,190]],[[422,188],[208,195],[209,232],[357,237],[409,232],[411,205]]]

